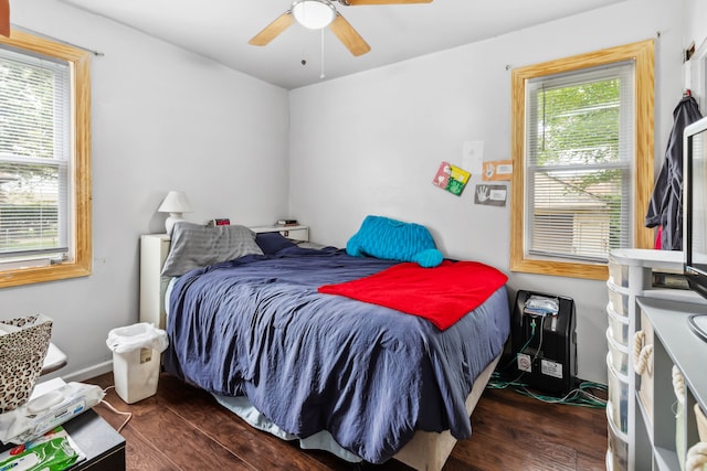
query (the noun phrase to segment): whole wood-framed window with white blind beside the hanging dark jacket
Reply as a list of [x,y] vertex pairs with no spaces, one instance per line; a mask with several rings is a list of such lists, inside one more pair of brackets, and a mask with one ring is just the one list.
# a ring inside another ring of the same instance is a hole
[[653,95],[653,41],[513,71],[513,271],[606,279],[652,246]]

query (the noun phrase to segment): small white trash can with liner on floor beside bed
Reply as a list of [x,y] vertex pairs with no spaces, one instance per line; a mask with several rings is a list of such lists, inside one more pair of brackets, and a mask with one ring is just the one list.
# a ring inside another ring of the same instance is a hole
[[113,351],[115,390],[127,404],[157,393],[160,354],[167,349],[167,332],[147,322],[113,329],[106,344]]

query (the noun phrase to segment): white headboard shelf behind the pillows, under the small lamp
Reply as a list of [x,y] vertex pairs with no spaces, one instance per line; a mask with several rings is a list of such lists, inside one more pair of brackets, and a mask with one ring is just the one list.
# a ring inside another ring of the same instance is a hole
[[[294,240],[309,240],[309,227],[257,226],[251,227],[257,234],[281,233]],[[169,278],[162,277],[162,266],[169,254],[170,238],[167,234],[140,236],[140,322],[149,322],[165,329],[165,291]]]

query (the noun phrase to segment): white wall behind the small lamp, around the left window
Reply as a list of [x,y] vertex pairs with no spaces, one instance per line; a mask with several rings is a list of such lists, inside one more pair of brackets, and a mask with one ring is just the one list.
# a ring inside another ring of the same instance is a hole
[[138,320],[138,238],[163,232],[169,190],[193,222],[286,215],[287,92],[54,0],[11,7],[13,24],[105,54],[92,61],[93,275],[0,289],[3,319],[54,319],[57,374],[83,379],[110,368],[108,331]]

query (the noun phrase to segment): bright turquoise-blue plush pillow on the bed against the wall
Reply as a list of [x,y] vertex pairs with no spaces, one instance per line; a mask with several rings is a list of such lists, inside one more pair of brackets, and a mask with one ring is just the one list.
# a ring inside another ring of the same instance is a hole
[[415,261],[436,267],[443,260],[425,226],[383,216],[366,216],[359,231],[346,244],[354,257],[371,256],[388,260]]

